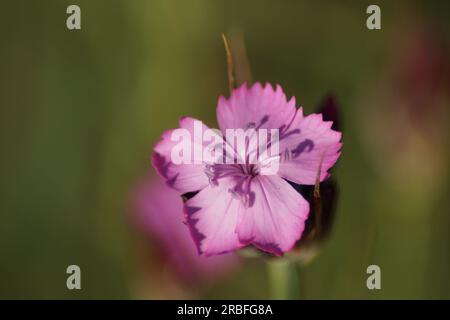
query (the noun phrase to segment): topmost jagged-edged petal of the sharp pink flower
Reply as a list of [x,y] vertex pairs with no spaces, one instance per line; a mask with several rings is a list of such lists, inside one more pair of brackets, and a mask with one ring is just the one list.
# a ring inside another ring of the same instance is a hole
[[267,83],[264,87],[255,83],[247,88],[244,83],[233,90],[227,100],[219,97],[217,105],[217,121],[222,133],[226,129],[257,128],[278,129],[288,125],[295,115],[295,98],[287,101],[286,95],[279,85],[274,90]]

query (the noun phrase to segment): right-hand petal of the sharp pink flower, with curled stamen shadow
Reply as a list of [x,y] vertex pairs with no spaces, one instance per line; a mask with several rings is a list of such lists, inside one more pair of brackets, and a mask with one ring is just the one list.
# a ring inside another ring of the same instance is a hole
[[[298,184],[315,184],[329,176],[342,147],[342,133],[331,129],[332,122],[323,121],[321,114],[303,116],[298,109],[285,133],[280,133],[282,160],[278,175]],[[286,155],[283,157],[283,155]]]

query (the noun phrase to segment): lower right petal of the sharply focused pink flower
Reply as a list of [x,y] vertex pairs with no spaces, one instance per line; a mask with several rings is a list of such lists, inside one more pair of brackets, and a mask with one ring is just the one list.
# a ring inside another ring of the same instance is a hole
[[309,214],[308,202],[277,176],[252,180],[253,206],[241,212],[237,233],[243,244],[275,255],[289,251],[300,239]]

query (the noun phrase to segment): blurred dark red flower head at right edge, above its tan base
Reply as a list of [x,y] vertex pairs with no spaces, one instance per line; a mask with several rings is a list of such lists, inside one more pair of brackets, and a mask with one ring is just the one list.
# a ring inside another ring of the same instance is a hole
[[391,99],[397,100],[392,101],[393,105],[404,106],[407,120],[418,130],[428,130],[427,123],[433,127],[439,108],[448,109],[442,103],[450,90],[450,52],[444,39],[427,24],[396,39],[391,61],[393,82],[389,84]]

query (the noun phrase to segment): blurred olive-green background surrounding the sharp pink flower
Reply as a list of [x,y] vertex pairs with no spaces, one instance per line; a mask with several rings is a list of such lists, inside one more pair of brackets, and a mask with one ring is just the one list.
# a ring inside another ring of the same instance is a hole
[[[160,134],[183,115],[215,124],[220,34],[239,30],[254,80],[308,113],[329,92],[340,106],[339,204],[298,267],[302,297],[450,299],[449,2],[376,1],[374,31],[369,4],[2,0],[0,297],[270,297],[260,259],[186,285],[130,212]],[[71,264],[82,290],[66,288]],[[370,264],[381,290],[366,288]]]

